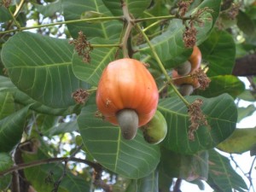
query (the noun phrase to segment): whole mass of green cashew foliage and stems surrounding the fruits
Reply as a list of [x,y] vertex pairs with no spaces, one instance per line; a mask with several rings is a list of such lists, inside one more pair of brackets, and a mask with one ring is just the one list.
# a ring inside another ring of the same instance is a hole
[[[255,1],[0,5],[0,191],[15,191],[17,174],[20,191],[178,191],[175,178],[224,192],[253,187],[216,148],[255,155],[255,128],[236,128],[255,111],[237,101],[255,95],[232,75],[236,58],[256,49]],[[172,69],[194,45],[211,83],[181,96]],[[158,85],[168,129],[161,143],[147,143],[141,130],[125,140],[97,111],[102,71],[128,56],[147,63]],[[196,102],[200,110],[191,113]]]

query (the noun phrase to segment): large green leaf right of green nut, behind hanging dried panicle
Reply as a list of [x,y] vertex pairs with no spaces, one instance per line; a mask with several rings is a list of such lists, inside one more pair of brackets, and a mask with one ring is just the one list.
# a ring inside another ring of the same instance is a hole
[[214,148],[236,129],[237,109],[233,98],[223,94],[213,98],[201,96],[186,97],[189,103],[202,99],[202,112],[207,117],[208,126],[201,125],[195,131],[195,141],[190,141],[188,108],[177,97],[161,99],[158,110],[165,116],[168,125],[166,148],[180,154],[195,154]]

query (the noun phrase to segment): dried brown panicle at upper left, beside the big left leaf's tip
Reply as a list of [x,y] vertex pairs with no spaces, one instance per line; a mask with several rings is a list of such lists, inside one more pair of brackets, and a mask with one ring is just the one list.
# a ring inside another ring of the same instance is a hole
[[93,49],[93,47],[90,45],[90,42],[87,41],[84,32],[80,31],[79,37],[71,40],[69,44],[74,44],[75,50],[80,56],[83,56],[84,62],[90,62],[90,51]]

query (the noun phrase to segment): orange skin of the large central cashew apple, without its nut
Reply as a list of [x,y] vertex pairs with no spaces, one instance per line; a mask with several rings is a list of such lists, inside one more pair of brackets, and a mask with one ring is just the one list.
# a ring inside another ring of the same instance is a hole
[[103,70],[96,92],[96,105],[105,119],[119,125],[116,114],[133,109],[138,126],[154,116],[159,100],[154,78],[142,62],[124,58],[112,61]]

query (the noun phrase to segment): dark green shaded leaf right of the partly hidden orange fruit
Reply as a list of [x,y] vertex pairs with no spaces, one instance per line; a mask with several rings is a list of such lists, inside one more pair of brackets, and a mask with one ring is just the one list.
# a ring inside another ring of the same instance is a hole
[[203,60],[207,61],[208,77],[231,74],[235,65],[236,44],[230,33],[213,30],[200,46]]

